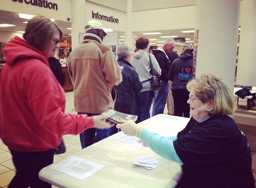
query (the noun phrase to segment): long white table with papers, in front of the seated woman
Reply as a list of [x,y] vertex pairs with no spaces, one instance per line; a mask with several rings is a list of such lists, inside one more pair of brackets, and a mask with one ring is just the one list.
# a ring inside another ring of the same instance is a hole
[[[186,126],[188,121],[188,118],[158,114],[139,125],[163,136],[174,136]],[[39,178],[60,188],[174,188],[176,186],[182,176],[179,163],[155,154],[149,147],[111,139],[117,134],[74,154],[76,157],[105,165],[84,180],[55,171],[50,168],[51,165],[39,172]],[[155,157],[159,166],[152,170],[138,167],[132,164],[137,157]]]

